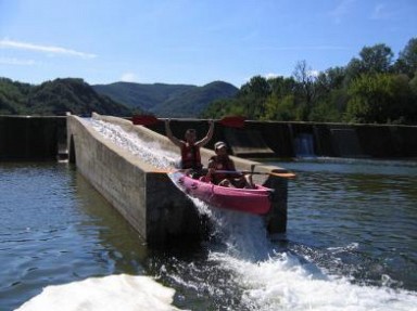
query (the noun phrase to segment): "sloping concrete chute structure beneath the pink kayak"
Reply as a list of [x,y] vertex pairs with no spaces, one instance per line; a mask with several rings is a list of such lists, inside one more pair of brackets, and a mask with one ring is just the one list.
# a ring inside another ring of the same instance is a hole
[[[141,140],[179,155],[169,140],[131,121],[93,114],[93,118],[135,132]],[[106,140],[85,120],[67,116],[70,160],[84,177],[124,216],[151,245],[201,241],[210,230],[208,220],[199,213],[192,202],[170,181],[166,173],[144,159]],[[214,154],[201,150],[203,163]],[[238,170],[285,171],[258,163],[232,157]],[[162,168],[163,169],[163,168]],[[268,177],[264,183],[275,190],[273,209],[265,216],[270,233],[286,231],[287,180]]]

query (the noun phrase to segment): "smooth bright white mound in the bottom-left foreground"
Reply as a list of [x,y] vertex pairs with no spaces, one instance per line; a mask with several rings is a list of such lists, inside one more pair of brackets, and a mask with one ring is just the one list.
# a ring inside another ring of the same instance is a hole
[[180,310],[172,306],[174,294],[174,289],[147,276],[110,275],[48,286],[16,310]]

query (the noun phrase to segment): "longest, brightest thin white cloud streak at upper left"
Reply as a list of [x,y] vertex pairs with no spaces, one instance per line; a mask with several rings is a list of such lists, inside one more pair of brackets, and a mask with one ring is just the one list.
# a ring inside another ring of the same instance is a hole
[[94,59],[97,56],[96,54],[78,52],[75,50],[65,49],[61,47],[39,46],[39,44],[14,41],[9,39],[0,40],[0,48],[43,52],[43,53],[50,53],[50,54],[62,54],[62,55],[81,57],[81,59]]

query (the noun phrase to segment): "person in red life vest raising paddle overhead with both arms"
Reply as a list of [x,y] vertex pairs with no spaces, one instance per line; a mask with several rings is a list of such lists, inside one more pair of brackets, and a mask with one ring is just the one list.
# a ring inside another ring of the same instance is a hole
[[185,133],[185,140],[179,140],[173,135],[169,127],[169,119],[165,120],[165,131],[168,139],[180,148],[181,160],[179,167],[181,169],[192,170],[192,174],[200,173],[203,165],[201,164],[200,147],[208,143],[214,132],[214,121],[208,120],[207,134],[200,141],[197,141],[197,132],[194,129],[188,129]]

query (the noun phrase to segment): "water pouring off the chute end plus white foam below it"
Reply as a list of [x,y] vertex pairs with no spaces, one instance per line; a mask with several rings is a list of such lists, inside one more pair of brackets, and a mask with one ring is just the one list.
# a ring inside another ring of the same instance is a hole
[[[417,310],[417,293],[361,286],[329,275],[311,261],[278,252],[260,218],[217,215],[227,250],[213,251],[222,269],[243,288],[241,302],[250,310]],[[355,247],[355,245],[351,245]],[[387,275],[381,275],[382,278]]]

